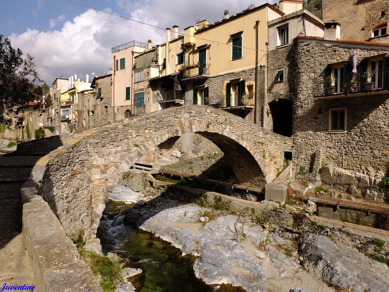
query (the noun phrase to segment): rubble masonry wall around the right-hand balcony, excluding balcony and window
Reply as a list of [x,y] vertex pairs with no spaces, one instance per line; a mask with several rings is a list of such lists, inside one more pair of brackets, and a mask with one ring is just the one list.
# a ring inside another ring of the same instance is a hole
[[[323,76],[327,65],[348,61],[354,51],[359,65],[365,57],[387,54],[389,48],[340,47],[313,40],[300,40],[296,47],[299,71],[293,98],[293,157],[298,169],[305,166],[308,171],[319,149],[323,151],[323,162],[337,167],[381,174],[389,167],[388,94],[328,101],[313,96],[315,78]],[[331,108],[347,108],[346,132],[328,131]]]

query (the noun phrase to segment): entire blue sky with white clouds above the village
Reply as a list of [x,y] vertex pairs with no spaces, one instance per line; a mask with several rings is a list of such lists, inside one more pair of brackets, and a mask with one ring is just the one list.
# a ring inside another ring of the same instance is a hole
[[[207,18],[214,22],[228,9],[235,14],[249,4],[266,0],[77,0],[127,18],[161,28],[193,25]],[[275,0],[267,0],[273,3]],[[40,76],[51,85],[56,77],[100,75],[111,66],[111,48],[130,40],[153,44],[165,32],[96,11],[68,0],[0,0],[0,34],[13,47],[35,57]]]

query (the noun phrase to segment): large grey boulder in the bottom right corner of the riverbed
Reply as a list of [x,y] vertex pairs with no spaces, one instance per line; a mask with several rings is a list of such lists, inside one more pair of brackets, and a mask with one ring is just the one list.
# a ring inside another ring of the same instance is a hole
[[310,269],[353,292],[388,292],[389,268],[328,237],[304,234],[301,256]]

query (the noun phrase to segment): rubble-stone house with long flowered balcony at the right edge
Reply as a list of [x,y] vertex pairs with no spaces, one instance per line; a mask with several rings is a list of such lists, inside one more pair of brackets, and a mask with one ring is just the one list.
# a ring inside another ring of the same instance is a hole
[[[354,53],[357,81],[344,77],[341,92],[322,91],[326,72],[350,68]],[[318,180],[320,171],[326,170],[330,174],[322,179],[333,186],[347,184],[347,177],[351,193],[384,199],[380,183],[389,169],[389,74],[375,70],[381,88],[361,90],[366,82],[361,80],[373,78],[363,77],[369,74],[362,73],[363,66],[370,68],[372,62],[389,66],[388,55],[388,45],[304,36],[296,38],[285,52],[296,73],[296,78],[289,80],[289,89],[293,102],[293,161],[298,176],[305,174],[306,179]],[[343,128],[334,129],[332,125],[339,121]]]

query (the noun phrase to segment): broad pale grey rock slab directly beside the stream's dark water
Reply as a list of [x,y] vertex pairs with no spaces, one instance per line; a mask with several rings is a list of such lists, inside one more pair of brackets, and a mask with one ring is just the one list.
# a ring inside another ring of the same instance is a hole
[[[155,210],[141,217],[138,225],[171,242],[183,254],[198,255],[195,275],[207,284],[231,283],[249,292],[286,292],[299,287],[307,291],[333,291],[301,268],[297,252],[296,256],[285,256],[282,249],[266,244],[288,246],[291,244],[288,240],[268,234],[262,226],[250,221],[237,222],[235,215],[201,223],[199,219],[204,212],[212,210],[195,205]],[[237,239],[234,233],[241,238]],[[258,250],[261,245],[263,251]]]

